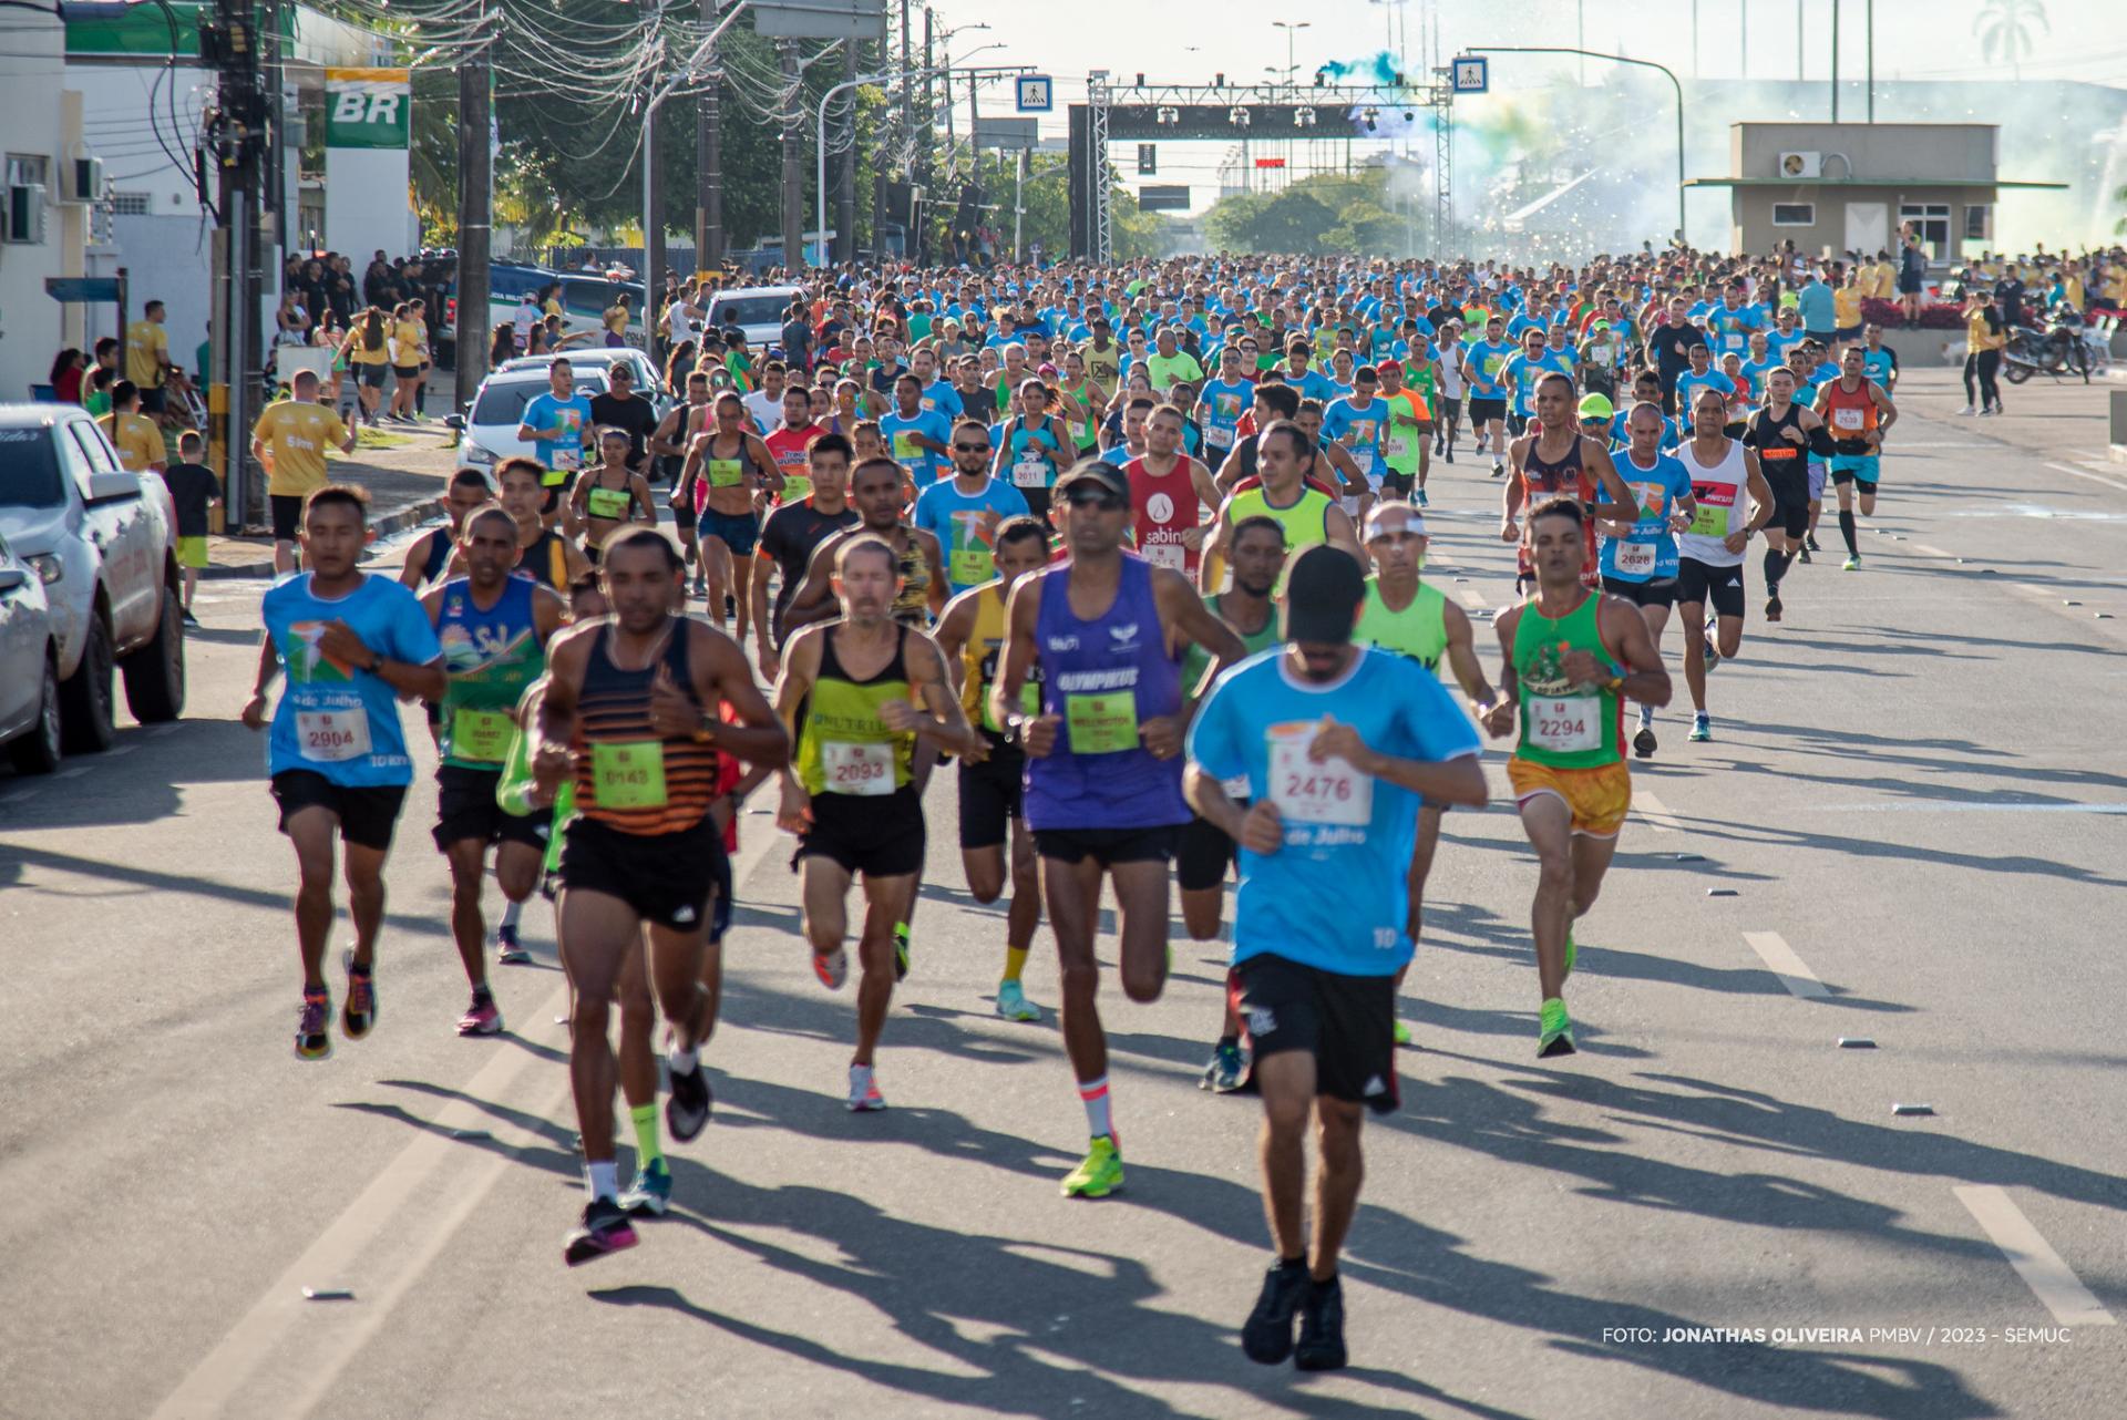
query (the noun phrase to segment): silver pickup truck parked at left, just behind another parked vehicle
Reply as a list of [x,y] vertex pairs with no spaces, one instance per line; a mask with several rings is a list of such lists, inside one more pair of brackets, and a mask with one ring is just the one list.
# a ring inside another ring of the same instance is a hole
[[113,667],[134,719],[183,714],[177,514],[160,474],[125,472],[74,404],[0,404],[0,534],[51,602],[68,753],[111,744]]

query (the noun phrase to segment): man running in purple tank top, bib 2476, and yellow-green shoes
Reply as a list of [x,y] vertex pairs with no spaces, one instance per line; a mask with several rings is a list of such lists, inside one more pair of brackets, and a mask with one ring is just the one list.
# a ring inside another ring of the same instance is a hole
[[[1123,991],[1153,1001],[1168,976],[1168,859],[1189,823],[1180,648],[1195,642],[1210,650],[1210,676],[1238,661],[1242,644],[1180,572],[1123,555],[1132,508],[1129,480],[1117,468],[1078,463],[1057,495],[1070,504],[1070,561],[1012,589],[989,712],[1027,755],[1025,814],[1064,976],[1064,1046],[1091,1133],[1064,1193],[1098,1199],[1123,1186],[1095,1005],[1100,882],[1115,882]],[[1021,691],[1036,659],[1042,712],[1029,714]]]

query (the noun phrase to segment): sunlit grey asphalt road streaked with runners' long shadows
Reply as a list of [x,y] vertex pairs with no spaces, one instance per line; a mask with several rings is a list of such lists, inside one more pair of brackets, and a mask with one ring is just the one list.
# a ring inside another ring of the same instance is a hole
[[[1353,1367],[1327,1377],[1238,1348],[1268,1241],[1257,1108],[1195,1088],[1217,946],[1178,944],[1155,1005],[1108,986],[1129,1186],[1057,1197],[1083,1116],[1053,1016],[991,1014],[1002,916],[964,891],[951,776],[893,1108],[842,1110],[853,999],[813,980],[789,842],[755,812],[715,1125],[640,1248],[564,1269],[547,910],[538,965],[498,969],[510,1033],[455,1037],[423,776],[381,1025],[296,1063],[291,859],[234,723],[259,589],[202,593],[194,719],[0,778],[0,1414],[2112,1414],[2127,470],[1957,402],[1912,376],[1863,572],[1827,517],[1768,627],[1751,559],[1716,740],[1670,710],[1636,765],[1578,1056],[1534,1059],[1510,810],[1451,818],[1406,1105],[1366,1131]],[[1429,576],[1500,604],[1497,485],[1466,453],[1434,491]],[[1027,988],[1055,1003],[1046,935]]]

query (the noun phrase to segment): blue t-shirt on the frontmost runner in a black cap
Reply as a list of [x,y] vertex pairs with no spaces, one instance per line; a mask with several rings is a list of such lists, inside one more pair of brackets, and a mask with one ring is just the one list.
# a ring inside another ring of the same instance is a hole
[[1221,780],[1246,776],[1251,799],[1285,818],[1272,855],[1240,850],[1234,961],[1263,952],[1323,971],[1389,976],[1410,961],[1410,852],[1419,795],[1342,761],[1308,761],[1323,716],[1397,759],[1476,755],[1470,725],[1440,678],[1389,650],[1363,648],[1325,687],[1285,667],[1272,646],[1219,676],[1189,727],[1189,759]]

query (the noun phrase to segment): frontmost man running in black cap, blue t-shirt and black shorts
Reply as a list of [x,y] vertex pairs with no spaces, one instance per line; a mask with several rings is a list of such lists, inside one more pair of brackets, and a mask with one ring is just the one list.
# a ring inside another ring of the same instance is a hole
[[[1568,591],[1572,591],[1572,565]],[[1410,961],[1404,865],[1419,801],[1487,801],[1478,740],[1440,682],[1353,646],[1366,599],[1349,555],[1293,563],[1285,638],[1210,691],[1189,731],[1189,801],[1240,844],[1227,995],[1263,1095],[1257,1156],[1276,1258],[1240,1333],[1259,1365],[1344,1365],[1338,1254],[1359,1207],[1361,1105],[1389,1114],[1395,971]],[[1221,780],[1249,780],[1249,808]],[[1321,1173],[1312,1248],[1306,1135]],[[1300,1341],[1293,1343],[1293,1320]]]

